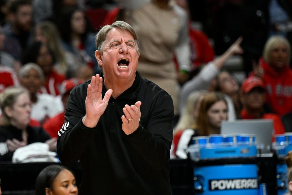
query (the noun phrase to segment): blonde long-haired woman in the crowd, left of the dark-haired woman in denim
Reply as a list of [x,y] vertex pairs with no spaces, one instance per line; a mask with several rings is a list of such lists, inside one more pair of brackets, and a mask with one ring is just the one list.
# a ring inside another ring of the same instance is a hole
[[64,50],[59,31],[54,23],[50,21],[38,23],[34,31],[34,40],[48,45],[55,56],[54,68],[59,74],[66,75],[67,78],[75,76],[80,65],[76,62],[74,55]]

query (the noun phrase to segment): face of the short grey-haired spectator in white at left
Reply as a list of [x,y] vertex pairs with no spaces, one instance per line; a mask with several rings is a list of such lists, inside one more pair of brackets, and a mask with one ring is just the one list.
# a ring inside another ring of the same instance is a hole
[[40,78],[40,74],[36,69],[30,69],[23,78],[20,79],[20,83],[22,86],[26,87],[31,94],[36,94],[36,92],[42,86],[42,81]]

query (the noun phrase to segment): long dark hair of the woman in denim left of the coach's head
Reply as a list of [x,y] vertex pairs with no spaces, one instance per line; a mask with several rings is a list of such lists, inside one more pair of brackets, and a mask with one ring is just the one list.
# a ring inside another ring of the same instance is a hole
[[[72,7],[65,8],[61,13],[61,17],[57,25],[60,31],[62,40],[65,41],[67,44],[71,44],[71,32],[72,32],[71,19],[75,12],[84,13],[84,11],[82,11],[81,9],[72,8]],[[85,13],[84,13],[84,16],[85,16]],[[81,35],[82,42],[86,40],[87,34],[91,31],[91,24],[89,20],[86,18],[86,16],[85,16],[85,22],[86,22],[86,29],[85,29],[85,32]]]

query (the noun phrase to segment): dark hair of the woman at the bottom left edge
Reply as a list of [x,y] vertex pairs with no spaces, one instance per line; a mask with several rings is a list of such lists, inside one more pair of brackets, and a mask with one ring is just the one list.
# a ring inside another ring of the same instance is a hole
[[72,172],[70,169],[62,165],[49,165],[44,168],[36,178],[36,195],[45,195],[45,189],[52,188],[57,175],[64,169]]

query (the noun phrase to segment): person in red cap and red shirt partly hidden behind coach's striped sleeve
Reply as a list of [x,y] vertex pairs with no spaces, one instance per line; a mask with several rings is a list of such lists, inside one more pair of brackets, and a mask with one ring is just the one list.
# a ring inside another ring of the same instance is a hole
[[[83,80],[77,79],[77,78],[71,78],[68,80],[64,80],[60,87],[60,92],[62,96],[62,102],[64,105],[64,108],[66,108],[67,100],[69,98],[70,91],[77,85],[81,84]],[[65,120],[65,114],[64,112],[61,112],[54,117],[48,119],[43,124],[43,129],[47,131],[47,133],[50,135],[50,137],[56,137],[58,138],[58,131],[61,129],[62,125],[64,124]]]

